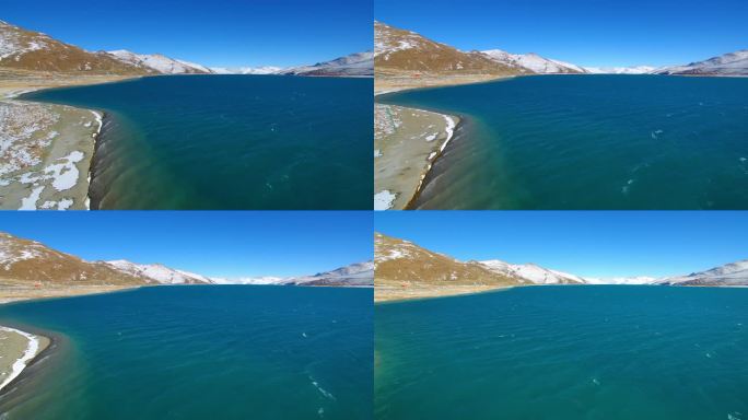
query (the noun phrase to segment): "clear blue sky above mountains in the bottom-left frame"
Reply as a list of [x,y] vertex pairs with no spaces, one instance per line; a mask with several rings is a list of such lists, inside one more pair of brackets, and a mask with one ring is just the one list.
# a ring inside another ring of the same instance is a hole
[[372,223],[364,211],[0,212],[0,231],[86,260],[227,278],[313,275],[370,260]]

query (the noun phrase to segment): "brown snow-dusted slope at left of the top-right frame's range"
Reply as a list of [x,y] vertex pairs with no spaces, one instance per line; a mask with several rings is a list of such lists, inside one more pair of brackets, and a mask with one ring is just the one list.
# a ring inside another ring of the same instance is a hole
[[499,62],[478,51],[431,40],[418,33],[374,22],[374,65],[377,72],[448,74],[523,74],[524,68]]

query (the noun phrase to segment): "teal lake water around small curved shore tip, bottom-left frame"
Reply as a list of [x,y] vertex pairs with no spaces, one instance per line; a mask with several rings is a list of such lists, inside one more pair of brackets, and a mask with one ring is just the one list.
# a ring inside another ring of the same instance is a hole
[[3,420],[371,419],[372,290],[162,287],[0,307],[61,336]]

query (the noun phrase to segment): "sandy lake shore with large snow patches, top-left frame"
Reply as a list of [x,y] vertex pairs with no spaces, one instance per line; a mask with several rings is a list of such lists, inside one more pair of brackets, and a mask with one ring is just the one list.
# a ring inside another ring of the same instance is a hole
[[43,89],[130,79],[0,71],[0,209],[85,210],[103,114],[17,96]]

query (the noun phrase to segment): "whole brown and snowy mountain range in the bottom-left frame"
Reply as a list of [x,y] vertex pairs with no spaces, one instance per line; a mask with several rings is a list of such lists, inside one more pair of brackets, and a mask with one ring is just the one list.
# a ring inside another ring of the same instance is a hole
[[39,242],[0,232],[0,278],[21,282],[50,282],[56,285],[284,284],[371,287],[374,284],[374,264],[372,261],[357,262],[303,277],[223,279],[173,269],[161,264],[136,264],[124,259],[86,261],[74,255],[52,249]]

